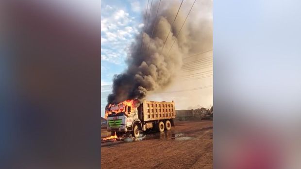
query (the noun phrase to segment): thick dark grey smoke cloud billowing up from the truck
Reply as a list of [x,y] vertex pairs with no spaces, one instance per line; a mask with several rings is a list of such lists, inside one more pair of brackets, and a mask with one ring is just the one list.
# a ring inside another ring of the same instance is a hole
[[[113,91],[108,96],[108,103],[127,99],[141,100],[148,92],[164,90],[180,71],[182,58],[196,52],[196,49],[200,51],[201,44],[198,36],[200,28],[195,25],[200,24],[198,20],[187,19],[181,34],[176,37],[193,1],[183,2],[174,24],[172,23],[180,2],[161,0],[156,16],[158,4],[159,1],[152,4],[151,15],[149,17],[148,14],[145,21],[148,27],[145,27],[142,34],[136,37],[130,48],[126,61],[128,68],[123,73],[115,75]],[[197,2],[193,10],[198,10]],[[193,13],[190,15],[194,17]]]

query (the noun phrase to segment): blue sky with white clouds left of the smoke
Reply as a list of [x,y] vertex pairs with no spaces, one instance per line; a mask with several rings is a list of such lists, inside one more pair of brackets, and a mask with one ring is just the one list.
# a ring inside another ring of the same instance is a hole
[[101,116],[114,74],[125,68],[129,46],[143,28],[145,0],[101,1]]

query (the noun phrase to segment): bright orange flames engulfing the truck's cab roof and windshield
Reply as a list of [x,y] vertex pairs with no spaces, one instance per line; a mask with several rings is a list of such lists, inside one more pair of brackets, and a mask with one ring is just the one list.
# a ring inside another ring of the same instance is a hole
[[140,101],[137,99],[132,99],[132,100],[126,100],[126,101],[122,101],[118,104],[109,104],[106,106],[105,108],[105,117],[104,118],[108,118],[109,115],[111,115],[112,113],[125,113],[125,115],[127,115],[127,111],[126,111],[126,107],[130,106],[132,108],[134,107],[138,107],[140,105]]

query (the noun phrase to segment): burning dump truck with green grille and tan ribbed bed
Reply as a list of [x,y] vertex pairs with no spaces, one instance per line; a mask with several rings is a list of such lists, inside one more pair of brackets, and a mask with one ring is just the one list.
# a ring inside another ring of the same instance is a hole
[[[139,137],[140,131],[163,132],[174,126],[175,103],[166,101],[127,100],[109,104],[105,109],[107,131],[111,135]],[[115,133],[116,132],[116,133]]]

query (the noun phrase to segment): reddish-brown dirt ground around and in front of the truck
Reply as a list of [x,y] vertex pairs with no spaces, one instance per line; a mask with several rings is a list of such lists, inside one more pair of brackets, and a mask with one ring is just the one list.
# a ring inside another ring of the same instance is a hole
[[[212,121],[176,121],[175,125],[165,133],[147,134],[142,141],[102,143],[101,168],[212,169]],[[101,136],[106,134],[102,129]]]

